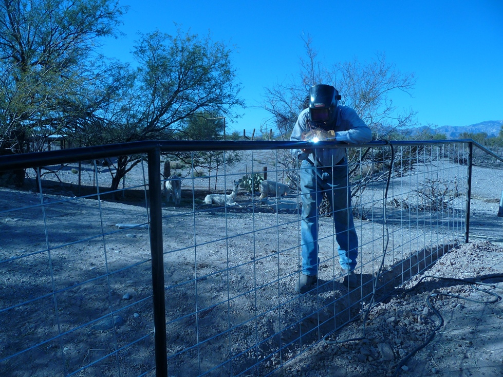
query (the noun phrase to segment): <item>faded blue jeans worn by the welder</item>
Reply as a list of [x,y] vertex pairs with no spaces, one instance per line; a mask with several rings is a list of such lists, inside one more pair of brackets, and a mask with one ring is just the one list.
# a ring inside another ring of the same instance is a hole
[[332,208],[339,263],[345,270],[354,270],[358,257],[358,236],[353,223],[351,189],[347,161],[322,169],[307,161],[300,168],[302,199],[302,273],[318,274],[318,208],[327,194]]

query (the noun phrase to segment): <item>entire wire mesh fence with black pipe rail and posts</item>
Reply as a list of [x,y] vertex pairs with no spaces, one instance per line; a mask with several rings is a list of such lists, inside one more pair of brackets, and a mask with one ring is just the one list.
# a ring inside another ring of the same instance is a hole
[[[320,281],[304,295],[293,290],[302,219],[289,149],[307,142],[149,141],[2,156],[0,172],[27,171],[24,190],[0,189],[0,370],[273,374],[468,241],[473,145],[320,143],[347,148],[361,284],[342,284],[333,220],[321,215]],[[221,151],[218,169],[194,165],[201,151]],[[240,162],[228,161],[233,151]],[[111,194],[114,165],[96,161],[120,155],[141,162]],[[162,196],[165,160],[181,177],[179,205]],[[264,174],[292,191],[259,201],[243,178]],[[236,203],[204,202],[234,181]]]

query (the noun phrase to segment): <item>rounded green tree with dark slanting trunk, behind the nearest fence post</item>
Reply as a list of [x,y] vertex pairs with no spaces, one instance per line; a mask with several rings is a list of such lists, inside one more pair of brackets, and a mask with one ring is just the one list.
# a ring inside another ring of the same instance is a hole
[[[114,142],[184,138],[180,131],[200,112],[233,118],[234,108],[244,107],[244,101],[238,97],[241,88],[230,54],[222,42],[180,29],[175,35],[141,35],[133,85],[110,125]],[[139,161],[138,156],[120,156],[111,189]]]

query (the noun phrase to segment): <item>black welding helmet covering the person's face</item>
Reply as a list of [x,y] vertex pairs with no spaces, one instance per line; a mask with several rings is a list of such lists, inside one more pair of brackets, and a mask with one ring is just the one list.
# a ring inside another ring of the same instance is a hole
[[335,125],[341,96],[331,85],[318,84],[309,89],[309,120],[315,127]]

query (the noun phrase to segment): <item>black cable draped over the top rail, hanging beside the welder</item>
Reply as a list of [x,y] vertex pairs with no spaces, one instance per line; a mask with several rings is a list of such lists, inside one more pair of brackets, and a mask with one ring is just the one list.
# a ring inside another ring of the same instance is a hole
[[[370,313],[370,309],[374,306],[374,303],[375,303],[377,282],[379,281],[379,277],[381,275],[382,268],[384,266],[384,259],[386,257],[386,250],[388,248],[388,243],[389,243],[389,230],[388,230],[388,224],[387,224],[387,220],[386,220],[386,200],[388,198],[389,182],[391,180],[391,176],[393,173],[393,165],[395,164],[395,149],[393,148],[392,142],[390,142],[389,140],[385,140],[385,139],[380,139],[379,141],[384,141],[386,143],[386,145],[389,145],[389,147],[391,148],[391,161],[389,164],[389,171],[388,171],[388,177],[386,180],[386,189],[384,191],[384,203],[383,203],[384,232],[385,232],[384,238],[386,241],[384,243],[383,254],[382,254],[382,258],[381,258],[381,265],[379,266],[376,277],[372,281],[372,294],[370,296],[370,302],[369,302],[367,309],[365,310],[365,314],[363,316],[363,334],[360,337],[349,338],[349,339],[345,339],[342,341],[328,341],[327,338],[331,334],[333,334],[335,331],[337,331],[337,329],[336,329],[336,330],[330,331],[328,334],[326,334],[323,337],[323,340],[325,341],[326,344],[342,344],[342,343],[356,342],[356,341],[364,340],[366,337],[366,326],[365,325],[367,322],[367,318]],[[366,155],[368,151],[369,151],[369,149],[366,150],[364,155]],[[350,323],[358,321],[359,318],[361,318],[361,316],[357,316]]]

